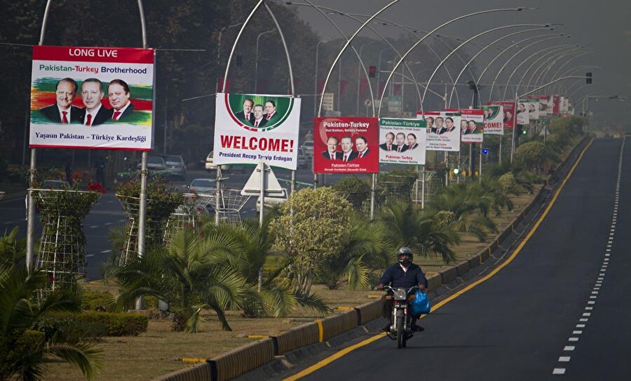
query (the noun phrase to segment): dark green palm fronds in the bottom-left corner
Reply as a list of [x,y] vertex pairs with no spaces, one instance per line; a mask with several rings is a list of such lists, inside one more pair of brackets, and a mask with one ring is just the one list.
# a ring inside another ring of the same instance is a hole
[[33,330],[51,314],[82,311],[76,290],[57,289],[35,300],[46,282],[43,272],[0,265],[0,380],[39,380],[51,356],[78,367],[88,380],[96,375],[100,351],[93,345]]

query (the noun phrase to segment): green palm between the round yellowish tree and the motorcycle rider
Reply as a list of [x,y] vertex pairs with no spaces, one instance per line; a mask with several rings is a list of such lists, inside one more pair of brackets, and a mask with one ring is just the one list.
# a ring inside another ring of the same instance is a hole
[[368,286],[371,267],[385,267],[386,227],[379,221],[368,221],[359,213],[351,218],[351,223],[343,238],[337,255],[325,258],[315,269],[315,276],[330,290],[337,290],[346,280],[351,290]]

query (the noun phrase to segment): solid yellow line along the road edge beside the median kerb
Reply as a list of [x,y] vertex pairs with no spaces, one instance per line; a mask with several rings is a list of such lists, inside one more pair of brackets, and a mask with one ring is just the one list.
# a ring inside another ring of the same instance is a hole
[[[526,238],[524,238],[522,243],[520,243],[520,245],[517,246],[517,248],[515,249],[513,254],[511,254],[510,257],[508,257],[508,259],[506,261],[504,261],[501,265],[496,267],[493,271],[489,272],[489,274],[487,274],[483,278],[478,279],[477,281],[471,283],[469,286],[463,288],[462,290],[459,290],[454,295],[449,296],[449,298],[445,298],[445,299],[441,300],[440,302],[436,303],[436,305],[433,305],[432,306],[432,311],[435,311],[435,310],[439,309],[440,307],[446,305],[448,302],[451,302],[452,300],[458,298],[460,295],[462,295],[463,293],[466,293],[468,290],[470,290],[471,288],[474,288],[475,286],[479,285],[480,283],[488,281],[491,278],[491,276],[494,276],[495,274],[497,274],[497,272],[499,272],[501,269],[506,267],[510,262],[513,262],[515,257],[517,257],[517,254],[519,254],[520,251],[522,250],[522,248],[524,248],[524,246],[526,246],[526,243],[528,243],[528,241],[531,238],[531,236],[533,236],[533,234],[538,229],[539,225],[541,225],[541,222],[543,222],[543,219],[548,215],[548,212],[550,212],[550,209],[552,209],[552,206],[555,204],[555,201],[557,201],[557,198],[559,197],[559,194],[561,193],[561,190],[565,186],[565,183],[567,182],[567,180],[569,180],[569,178],[572,175],[572,173],[574,173],[574,170],[578,166],[578,163],[580,163],[581,159],[583,159],[583,154],[585,154],[585,152],[588,150],[588,148],[592,145],[592,142],[594,142],[594,139],[590,140],[589,144],[587,146],[585,146],[585,148],[583,149],[581,154],[578,155],[578,159],[576,159],[576,163],[574,163],[574,166],[572,166],[572,168],[570,169],[569,173],[567,173],[567,175],[565,176],[565,178],[561,182],[561,185],[559,185],[559,189],[557,189],[557,192],[555,192],[555,195],[552,197],[552,200],[550,200],[550,203],[548,204],[548,207],[545,208],[545,210],[543,210],[543,213],[541,213],[541,217],[539,217],[539,219],[537,220],[535,225],[532,227],[532,229],[530,229],[530,232],[528,233]],[[425,317],[425,315],[421,316],[421,319],[423,317]],[[319,321],[318,321],[318,326],[320,327],[320,342],[322,342],[323,330],[322,330],[322,323],[319,322]],[[378,335],[374,335],[372,337],[369,337],[366,340],[363,340],[362,342],[358,342],[355,345],[351,345],[351,347],[344,348],[341,351],[336,352],[336,353],[332,354],[331,356],[327,357],[326,359],[324,359],[322,361],[318,361],[318,363],[313,364],[312,366],[302,370],[301,372],[296,373],[295,375],[292,375],[290,377],[285,378],[283,381],[299,380],[302,377],[305,377],[306,375],[310,375],[311,373],[315,372],[315,370],[318,370],[320,368],[323,368],[323,367],[327,366],[328,364],[330,364],[333,361],[339,359],[340,357],[345,356],[346,354],[349,354],[349,353],[353,352],[355,349],[358,349],[360,347],[365,347],[366,345],[369,345],[371,342],[379,340],[379,339],[381,339],[381,337],[384,337],[384,336],[386,336],[386,333],[379,333]]]

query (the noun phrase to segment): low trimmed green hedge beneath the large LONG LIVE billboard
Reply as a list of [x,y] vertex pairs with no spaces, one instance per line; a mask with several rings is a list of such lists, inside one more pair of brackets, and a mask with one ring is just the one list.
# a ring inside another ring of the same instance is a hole
[[136,336],[147,332],[149,317],[141,314],[116,314],[112,312],[82,312],[81,314],[55,314],[36,327],[53,337],[96,340],[103,336]]

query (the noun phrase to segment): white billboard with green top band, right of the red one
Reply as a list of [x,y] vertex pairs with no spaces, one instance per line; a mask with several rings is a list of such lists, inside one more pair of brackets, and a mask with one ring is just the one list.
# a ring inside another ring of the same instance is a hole
[[379,162],[425,164],[426,121],[423,119],[379,120]]

